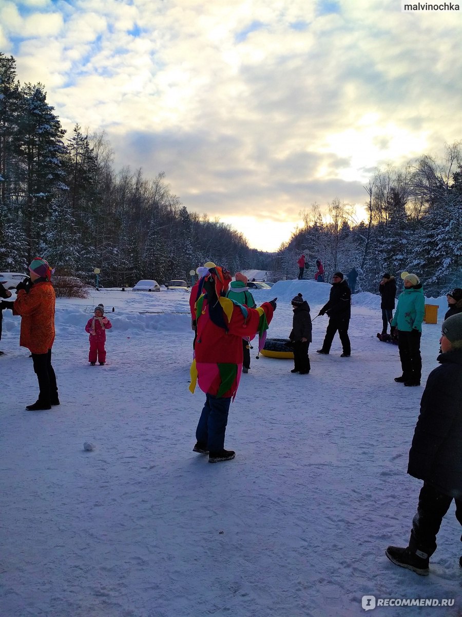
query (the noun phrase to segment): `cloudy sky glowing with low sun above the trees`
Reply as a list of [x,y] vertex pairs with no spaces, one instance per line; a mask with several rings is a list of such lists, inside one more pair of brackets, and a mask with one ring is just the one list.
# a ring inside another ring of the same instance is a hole
[[462,138],[461,40],[461,11],[401,0],[0,0],[0,51],[65,128],[265,250]]

